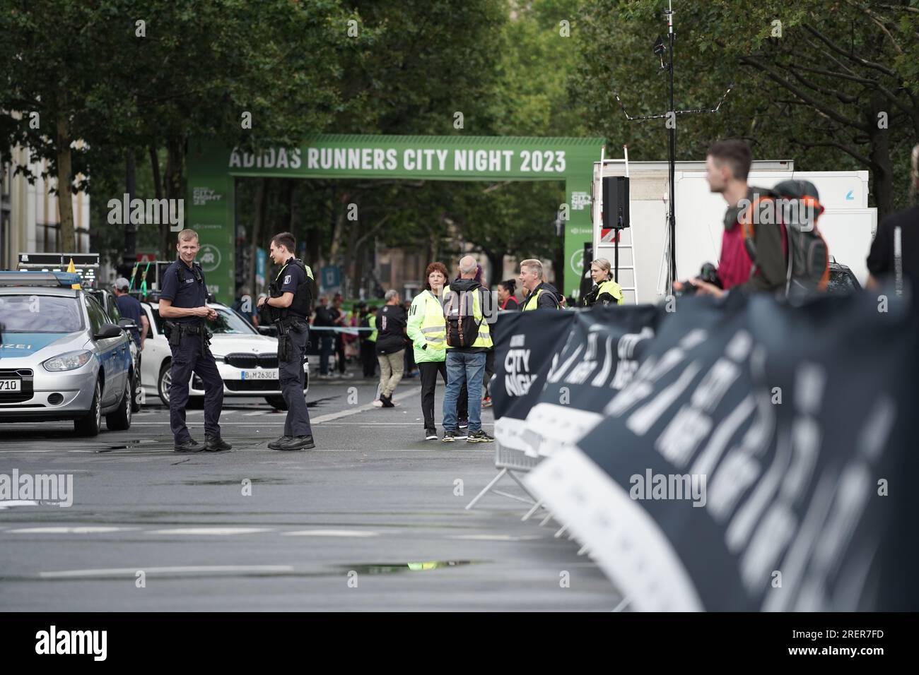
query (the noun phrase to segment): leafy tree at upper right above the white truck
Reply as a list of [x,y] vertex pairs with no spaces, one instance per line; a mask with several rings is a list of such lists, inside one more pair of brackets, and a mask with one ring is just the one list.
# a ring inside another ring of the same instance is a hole
[[[578,23],[581,53],[570,88],[590,128],[629,144],[630,157],[666,156],[665,78],[652,55],[664,35],[659,0],[588,0]],[[704,156],[710,141],[749,141],[757,157],[796,160],[798,169],[868,168],[883,217],[902,205],[909,148],[919,141],[919,11],[906,2],[730,0],[676,3],[676,108],[719,115],[677,117],[677,159]],[[887,128],[879,127],[886,112]],[[659,122],[659,123],[658,123]]]

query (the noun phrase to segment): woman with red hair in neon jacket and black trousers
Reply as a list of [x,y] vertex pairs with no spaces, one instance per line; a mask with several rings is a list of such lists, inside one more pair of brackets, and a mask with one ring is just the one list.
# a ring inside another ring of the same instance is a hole
[[421,371],[421,411],[425,416],[425,440],[437,440],[434,422],[434,388],[437,373],[447,384],[447,323],[440,293],[447,283],[447,267],[431,263],[425,270],[425,290],[412,300],[406,332],[414,347],[414,362]]

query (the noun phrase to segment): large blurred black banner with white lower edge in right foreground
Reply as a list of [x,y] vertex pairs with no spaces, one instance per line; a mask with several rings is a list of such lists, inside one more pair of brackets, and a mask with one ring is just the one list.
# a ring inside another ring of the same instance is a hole
[[528,486],[639,610],[915,610],[917,343],[892,293],[681,299]]

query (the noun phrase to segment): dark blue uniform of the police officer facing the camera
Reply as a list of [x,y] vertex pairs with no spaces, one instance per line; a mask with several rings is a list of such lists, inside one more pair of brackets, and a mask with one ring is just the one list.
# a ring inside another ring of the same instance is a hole
[[[181,265],[184,280],[180,282],[176,268]],[[181,259],[170,264],[162,279],[160,298],[172,300],[176,308],[192,309],[207,304],[208,289],[204,273],[199,264],[188,267]],[[188,382],[192,371],[204,382],[204,433],[208,437],[220,438],[218,420],[223,405],[223,380],[217,370],[213,354],[206,343],[205,323],[201,317],[180,317],[169,319],[176,323],[180,338],[170,340],[172,350],[172,384],[169,387],[169,425],[176,437],[176,446],[191,440],[185,423],[185,409],[188,403]]]

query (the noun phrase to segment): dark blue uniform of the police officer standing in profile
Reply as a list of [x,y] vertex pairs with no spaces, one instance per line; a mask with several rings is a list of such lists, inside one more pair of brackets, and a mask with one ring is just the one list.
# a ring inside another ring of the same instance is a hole
[[[285,264],[276,278],[278,298],[285,293],[296,295],[297,288],[306,281],[306,274],[297,264]],[[284,421],[284,435],[294,438],[312,436],[310,411],[303,396],[303,355],[310,337],[310,324],[304,314],[296,309],[288,309],[289,354],[287,361],[278,361],[281,395],[288,406],[287,419]]]

